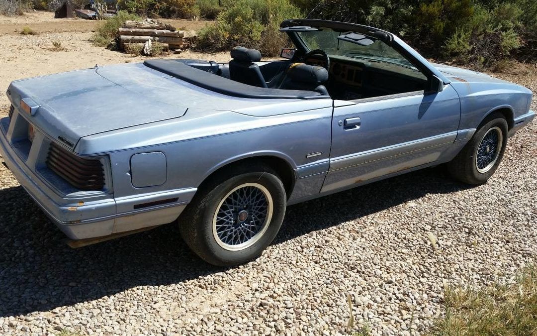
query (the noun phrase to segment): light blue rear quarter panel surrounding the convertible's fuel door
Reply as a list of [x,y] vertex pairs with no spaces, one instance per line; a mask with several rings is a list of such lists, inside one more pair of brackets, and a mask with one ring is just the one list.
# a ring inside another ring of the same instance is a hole
[[[85,137],[75,151],[110,155],[116,198],[197,188],[215,170],[255,156],[283,159],[297,177],[322,175],[329,166],[331,100],[326,99],[325,105],[329,106],[266,117],[231,111],[204,115],[203,111],[189,110],[177,120]],[[296,106],[299,108],[300,102]],[[185,118],[189,114],[190,118]],[[135,188],[130,178],[130,158],[149,152],[166,156],[166,181],[155,187]],[[321,155],[306,157],[316,152]],[[315,178],[313,184],[302,193],[318,192],[322,178]],[[118,213],[127,210],[118,204]]]

